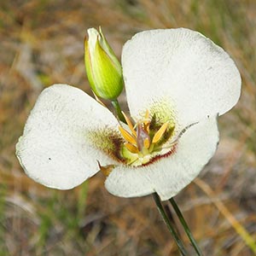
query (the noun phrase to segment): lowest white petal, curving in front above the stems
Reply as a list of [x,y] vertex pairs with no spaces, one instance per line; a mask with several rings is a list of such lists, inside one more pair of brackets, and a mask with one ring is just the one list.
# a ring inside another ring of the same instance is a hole
[[217,120],[205,119],[183,134],[175,154],[148,166],[119,166],[110,173],[105,186],[113,195],[134,197],[157,192],[161,200],[167,200],[201,172],[214,154],[217,143]]

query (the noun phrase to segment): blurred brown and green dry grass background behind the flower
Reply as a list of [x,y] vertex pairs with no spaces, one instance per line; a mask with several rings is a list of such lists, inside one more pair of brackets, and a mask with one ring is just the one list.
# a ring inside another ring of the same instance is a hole
[[119,57],[136,32],[184,26],[236,61],[241,100],[219,118],[217,153],[176,200],[204,255],[254,255],[247,243],[256,239],[255,0],[2,0],[0,255],[179,255],[152,196],[114,197],[101,173],[73,190],[48,189],[26,177],[15,157],[41,90],[65,83],[91,95],[83,41],[92,26],[102,26]]

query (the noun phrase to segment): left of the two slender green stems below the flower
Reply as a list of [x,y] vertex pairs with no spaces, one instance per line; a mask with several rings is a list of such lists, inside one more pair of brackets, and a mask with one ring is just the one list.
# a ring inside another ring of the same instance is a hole
[[157,195],[156,193],[153,194],[154,197],[154,202],[156,204],[156,207],[158,208],[162,218],[164,219],[164,222],[168,228],[168,230],[170,231],[170,233],[172,234],[172,237],[174,239],[174,241],[176,241],[177,247],[179,248],[180,252],[182,253],[183,256],[188,255],[185,247],[183,246],[183,242],[179,239],[179,237],[177,236],[177,232],[176,230],[173,229],[172,224],[169,220],[169,218],[166,215],[166,212],[164,210],[164,207],[161,204],[160,201],[160,197],[159,195]]

